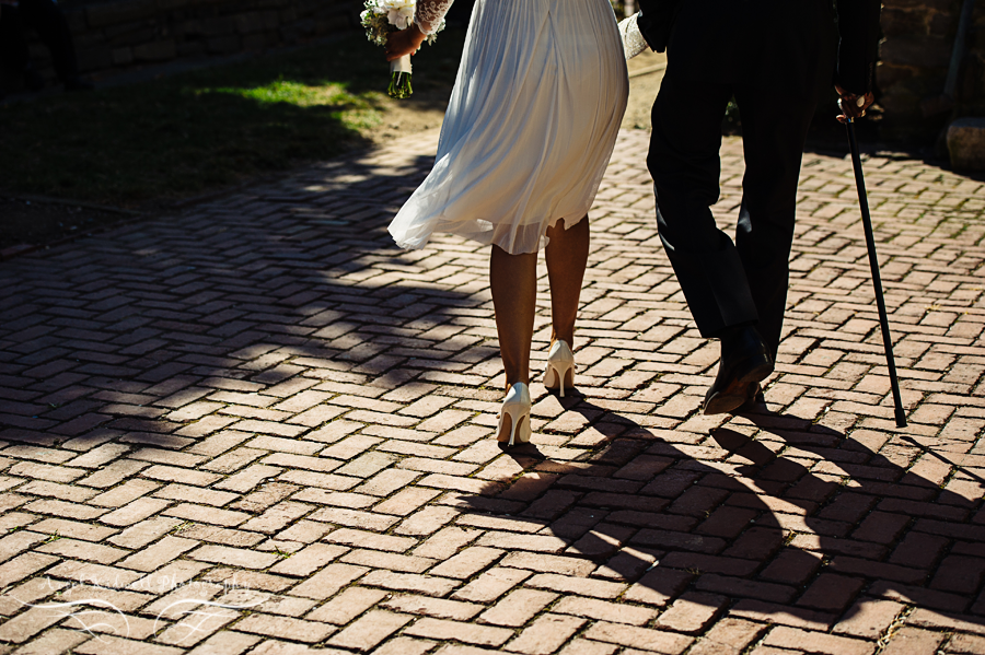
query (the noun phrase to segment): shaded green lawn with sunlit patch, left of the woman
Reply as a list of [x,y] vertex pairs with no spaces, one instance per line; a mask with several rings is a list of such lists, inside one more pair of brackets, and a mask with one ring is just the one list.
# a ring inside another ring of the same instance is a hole
[[[447,95],[464,34],[415,57],[415,97]],[[194,196],[368,145],[395,106],[361,33],[151,82],[0,107],[0,192],[117,206]]]

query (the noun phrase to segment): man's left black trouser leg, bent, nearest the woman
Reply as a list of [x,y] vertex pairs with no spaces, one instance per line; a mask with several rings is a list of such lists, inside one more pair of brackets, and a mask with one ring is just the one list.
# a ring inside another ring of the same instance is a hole
[[710,209],[719,196],[721,119],[731,96],[729,85],[665,77],[647,157],[660,239],[704,337],[757,320],[739,250]]

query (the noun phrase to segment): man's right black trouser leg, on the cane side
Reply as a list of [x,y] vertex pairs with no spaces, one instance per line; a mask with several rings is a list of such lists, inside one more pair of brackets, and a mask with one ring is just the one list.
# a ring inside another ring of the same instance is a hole
[[735,246],[752,290],[756,328],[776,360],[790,278],[790,247],[803,144],[816,98],[735,89],[745,175]]

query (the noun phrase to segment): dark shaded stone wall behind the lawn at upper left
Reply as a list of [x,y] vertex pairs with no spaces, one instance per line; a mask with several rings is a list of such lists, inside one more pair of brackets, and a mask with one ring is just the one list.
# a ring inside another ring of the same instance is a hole
[[[351,30],[358,0],[117,0],[62,5],[83,74],[302,43]],[[47,49],[32,57],[54,78]]]

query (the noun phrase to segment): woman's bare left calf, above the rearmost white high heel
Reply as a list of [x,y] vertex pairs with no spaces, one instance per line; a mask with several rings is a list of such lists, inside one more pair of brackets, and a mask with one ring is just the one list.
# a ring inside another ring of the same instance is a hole
[[489,279],[506,388],[518,382],[529,385],[530,341],[537,300],[537,254],[510,255],[499,246],[493,246]]

